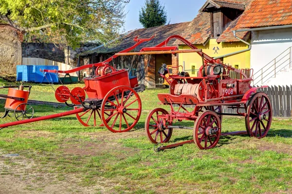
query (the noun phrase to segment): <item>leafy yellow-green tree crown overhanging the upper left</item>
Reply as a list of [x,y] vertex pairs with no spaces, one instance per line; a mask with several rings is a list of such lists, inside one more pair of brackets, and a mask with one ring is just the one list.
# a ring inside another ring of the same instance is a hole
[[109,42],[124,25],[129,0],[0,0],[0,23],[43,42]]

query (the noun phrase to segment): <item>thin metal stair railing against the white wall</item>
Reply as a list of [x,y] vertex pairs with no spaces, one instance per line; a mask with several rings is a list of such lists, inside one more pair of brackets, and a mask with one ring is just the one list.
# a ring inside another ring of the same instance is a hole
[[[253,76],[253,85],[263,84],[268,81],[272,77],[276,77],[276,74],[287,67],[292,66],[292,57],[291,57],[291,48],[289,47],[284,52],[279,54],[276,58],[274,58],[270,63],[262,67],[259,71],[257,71]],[[277,60],[278,59],[278,60]]]

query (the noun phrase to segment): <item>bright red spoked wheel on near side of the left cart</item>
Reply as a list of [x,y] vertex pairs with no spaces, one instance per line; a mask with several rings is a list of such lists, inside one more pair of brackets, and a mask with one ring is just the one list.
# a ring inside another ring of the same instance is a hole
[[141,99],[137,92],[128,86],[111,89],[101,104],[101,120],[104,126],[114,133],[133,129],[141,112]]

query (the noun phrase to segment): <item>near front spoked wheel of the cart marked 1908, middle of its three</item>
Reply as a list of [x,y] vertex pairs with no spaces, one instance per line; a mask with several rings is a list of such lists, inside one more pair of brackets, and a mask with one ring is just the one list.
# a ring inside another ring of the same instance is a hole
[[221,121],[214,111],[204,111],[195,121],[193,137],[200,149],[217,145],[221,135]]

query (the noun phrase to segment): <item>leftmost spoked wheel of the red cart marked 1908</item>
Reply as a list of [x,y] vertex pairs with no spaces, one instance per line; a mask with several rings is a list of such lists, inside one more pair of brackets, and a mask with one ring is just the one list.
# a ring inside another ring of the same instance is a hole
[[162,108],[157,108],[148,113],[145,122],[146,135],[150,142],[166,143],[172,135],[172,128],[168,128],[172,123],[159,116],[167,115],[168,112]]

